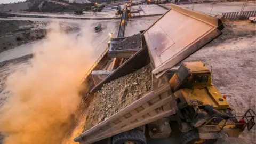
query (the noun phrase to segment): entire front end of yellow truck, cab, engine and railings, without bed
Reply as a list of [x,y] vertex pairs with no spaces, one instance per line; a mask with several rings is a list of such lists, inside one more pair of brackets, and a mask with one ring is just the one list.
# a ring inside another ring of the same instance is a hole
[[[182,139],[188,140],[184,143],[217,139],[221,131],[238,137],[246,126],[250,130],[255,125],[255,113],[250,109],[244,116],[233,115],[226,96],[212,85],[211,71],[201,61],[182,63],[169,83],[177,101]],[[189,137],[191,133],[196,137]]]

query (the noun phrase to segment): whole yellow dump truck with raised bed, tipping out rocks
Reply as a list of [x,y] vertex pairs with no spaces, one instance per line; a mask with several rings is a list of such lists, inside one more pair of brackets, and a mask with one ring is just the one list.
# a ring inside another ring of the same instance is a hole
[[[166,138],[177,121],[180,143],[213,143],[226,132],[238,137],[255,125],[255,113],[232,113],[226,98],[212,85],[211,69],[200,61],[179,63],[221,35],[220,19],[172,5],[141,34],[142,48],[107,78],[93,87],[87,99],[103,84],[150,63],[153,91],[84,131],[79,143],[137,143],[147,138]],[[179,68],[175,67],[179,65]],[[113,95],[115,97],[115,95]],[[88,116],[90,117],[90,115]],[[147,136],[146,136],[147,135]]]

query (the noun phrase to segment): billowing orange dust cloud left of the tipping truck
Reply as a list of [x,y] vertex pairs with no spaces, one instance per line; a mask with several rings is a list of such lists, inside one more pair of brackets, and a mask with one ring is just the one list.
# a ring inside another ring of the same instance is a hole
[[31,66],[7,79],[13,97],[0,111],[4,144],[63,143],[75,121],[82,78],[94,60],[92,36],[87,30],[67,35],[58,23],[49,27]]

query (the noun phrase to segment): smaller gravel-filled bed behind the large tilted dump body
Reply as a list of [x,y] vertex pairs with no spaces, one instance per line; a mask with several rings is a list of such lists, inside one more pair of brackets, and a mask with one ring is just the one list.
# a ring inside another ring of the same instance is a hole
[[111,38],[108,56],[112,58],[130,58],[141,47],[141,34],[125,38]]

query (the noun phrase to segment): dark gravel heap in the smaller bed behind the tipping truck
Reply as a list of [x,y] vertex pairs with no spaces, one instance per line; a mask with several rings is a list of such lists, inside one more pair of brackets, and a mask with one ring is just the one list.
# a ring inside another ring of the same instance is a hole
[[141,34],[126,37],[118,44],[114,44],[112,50],[127,50],[127,49],[140,49],[141,48]]

